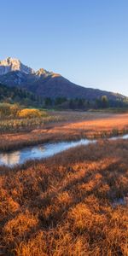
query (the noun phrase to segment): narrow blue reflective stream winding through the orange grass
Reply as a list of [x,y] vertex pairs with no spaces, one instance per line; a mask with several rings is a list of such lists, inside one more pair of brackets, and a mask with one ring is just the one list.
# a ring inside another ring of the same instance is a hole
[[[127,139],[128,134],[122,137],[112,137],[111,140]],[[73,148],[79,145],[88,145],[96,143],[96,140],[81,139],[76,142],[62,142],[62,143],[47,143],[29,148],[22,148],[9,153],[0,154],[0,166],[15,166],[23,164],[26,160],[40,160],[48,158],[54,154],[60,153],[68,148]]]

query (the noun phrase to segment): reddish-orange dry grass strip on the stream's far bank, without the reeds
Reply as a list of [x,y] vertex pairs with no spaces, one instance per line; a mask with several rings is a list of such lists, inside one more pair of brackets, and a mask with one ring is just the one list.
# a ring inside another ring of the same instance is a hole
[[[59,113],[54,113],[59,116]],[[84,137],[110,137],[128,132],[128,113],[62,112],[57,123],[29,132],[3,134],[0,150],[22,148],[38,143],[76,140]]]

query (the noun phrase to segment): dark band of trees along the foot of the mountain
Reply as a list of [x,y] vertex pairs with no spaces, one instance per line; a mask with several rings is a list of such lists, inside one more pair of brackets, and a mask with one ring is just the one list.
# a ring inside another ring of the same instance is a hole
[[94,100],[84,98],[68,99],[66,97],[44,98],[20,87],[9,87],[3,84],[0,84],[0,102],[19,103],[25,107],[55,109],[128,108],[128,101],[109,100],[107,96],[101,96]]

